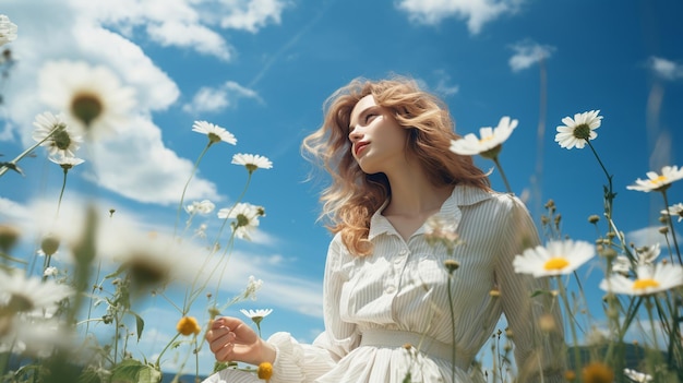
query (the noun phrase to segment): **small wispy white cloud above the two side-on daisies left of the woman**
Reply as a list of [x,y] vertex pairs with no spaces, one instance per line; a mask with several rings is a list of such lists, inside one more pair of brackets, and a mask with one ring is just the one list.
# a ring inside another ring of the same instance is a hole
[[228,81],[219,87],[201,87],[192,101],[182,106],[182,110],[189,113],[216,112],[233,106],[239,98],[261,100],[256,92]]

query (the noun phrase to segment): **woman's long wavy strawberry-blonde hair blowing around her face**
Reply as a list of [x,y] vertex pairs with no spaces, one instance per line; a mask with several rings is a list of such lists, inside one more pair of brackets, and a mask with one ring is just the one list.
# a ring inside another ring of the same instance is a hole
[[321,194],[321,218],[326,218],[327,229],[340,232],[347,249],[360,256],[372,253],[368,239],[370,219],[392,195],[386,176],[364,173],[351,155],[348,137],[351,110],[367,95],[372,95],[378,105],[388,108],[396,121],[410,130],[406,149],[416,154],[431,182],[490,190],[487,175],[475,166],[470,156],[448,149],[451,140],[460,136],[455,133],[455,123],[441,99],[405,76],[352,80],[325,100],[324,122],[303,140],[301,148],[307,159],[332,177],[331,184]]

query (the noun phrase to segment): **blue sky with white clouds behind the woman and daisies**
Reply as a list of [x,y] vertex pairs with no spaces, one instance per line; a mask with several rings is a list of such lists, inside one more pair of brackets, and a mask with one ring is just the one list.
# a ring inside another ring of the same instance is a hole
[[[587,217],[601,213],[606,177],[588,148],[567,151],[553,141],[562,118],[601,111],[594,145],[614,175],[616,223],[638,244],[659,240],[651,232],[661,196],[625,187],[649,170],[683,166],[676,0],[4,0],[0,13],[19,25],[17,39],[5,46],[17,62],[0,85],[5,160],[33,143],[34,118],[48,110],[37,97],[44,63],[104,64],[136,91],[135,125],[70,172],[67,201],[96,196],[145,227],[172,230],[182,187],[206,144],[191,131],[195,120],[227,129],[238,143],[208,151],[185,201],[227,207],[247,179],[230,165],[235,153],[273,161],[254,173],[244,196],[266,217],[252,242],[237,243],[223,284],[229,299],[249,275],[264,280],[257,301],[227,312],[273,308],[264,336],[288,331],[311,342],[322,330],[331,237],[316,217],[325,180],[307,181],[311,167],[299,145],[322,122],[324,99],[356,76],[415,76],[446,100],[460,134],[503,116],[518,119],[501,154],[512,188],[528,198],[537,222],[553,199],[564,234],[575,239],[596,237]],[[0,223],[26,218],[35,200],[57,201],[61,169],[45,151],[36,154],[20,164],[26,177],[0,180]],[[504,189],[496,171],[491,180]],[[682,200],[683,185],[674,183],[669,201]],[[217,218],[206,222],[217,229]],[[598,283],[589,287],[596,297]],[[173,333],[176,314],[161,299],[141,310],[156,334],[149,338]],[[203,310],[196,304],[197,316]],[[154,347],[140,345],[143,352]],[[201,358],[207,371],[213,358]]]

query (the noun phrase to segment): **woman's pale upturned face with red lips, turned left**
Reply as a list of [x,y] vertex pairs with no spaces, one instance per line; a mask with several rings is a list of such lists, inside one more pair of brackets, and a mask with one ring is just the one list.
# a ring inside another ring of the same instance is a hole
[[405,164],[407,135],[408,130],[372,95],[361,98],[351,110],[351,155],[366,173],[386,173],[397,164]]

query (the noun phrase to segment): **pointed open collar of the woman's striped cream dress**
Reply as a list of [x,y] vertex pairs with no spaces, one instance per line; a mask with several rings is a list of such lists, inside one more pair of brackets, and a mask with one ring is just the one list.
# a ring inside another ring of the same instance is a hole
[[[443,205],[441,205],[441,210],[436,214],[441,216],[444,224],[447,224],[453,228],[457,228],[463,216],[460,206],[474,205],[492,196],[493,194],[491,192],[476,187],[455,185],[455,188],[453,188],[453,192],[446,201],[444,201]],[[372,240],[374,237],[382,234],[395,234],[398,236],[394,226],[388,222],[388,219],[386,219],[385,216],[382,215],[386,205],[388,205],[388,199],[384,201],[384,204],[382,204],[382,206],[380,206],[380,208],[378,208],[378,211],[372,215],[372,218],[370,219],[370,232],[368,234],[368,239]],[[414,236],[422,232],[424,232],[424,225],[422,225],[414,234]]]

